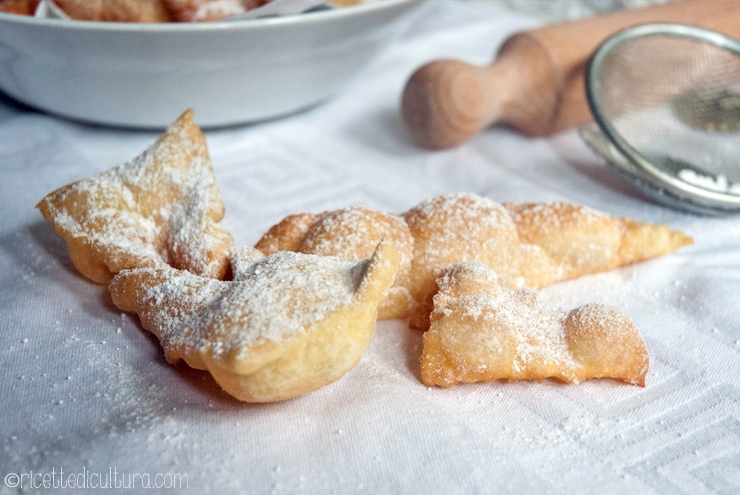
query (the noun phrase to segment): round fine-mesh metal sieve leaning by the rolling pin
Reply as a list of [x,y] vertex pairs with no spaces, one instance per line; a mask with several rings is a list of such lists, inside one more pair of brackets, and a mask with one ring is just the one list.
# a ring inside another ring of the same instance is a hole
[[654,199],[740,212],[740,43],[679,24],[617,33],[594,52],[581,136]]

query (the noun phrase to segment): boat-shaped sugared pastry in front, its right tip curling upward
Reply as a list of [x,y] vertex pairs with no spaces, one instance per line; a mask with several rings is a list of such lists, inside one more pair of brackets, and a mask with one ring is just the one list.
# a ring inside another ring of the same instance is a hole
[[234,256],[233,281],[164,266],[124,270],[109,289],[157,336],[167,361],[208,370],[248,402],[296,397],[354,367],[399,263],[388,242],[366,261],[287,251],[259,260],[249,249]]

